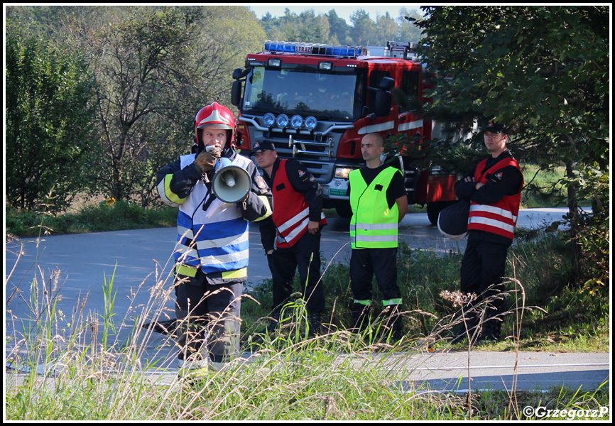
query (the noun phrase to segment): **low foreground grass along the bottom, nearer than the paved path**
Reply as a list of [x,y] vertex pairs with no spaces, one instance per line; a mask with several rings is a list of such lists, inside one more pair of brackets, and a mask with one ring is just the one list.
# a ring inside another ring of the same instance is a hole
[[[411,368],[364,352],[340,357],[341,334],[265,349],[226,371],[155,385],[138,373],[103,374],[91,364],[43,379],[28,377],[6,395],[9,420],[606,420],[609,391],[486,391],[456,395],[407,386]],[[383,375],[383,368],[389,371]],[[526,409],[527,407],[533,410]],[[537,412],[543,407],[551,410]],[[557,413],[555,412],[557,410]],[[573,417],[570,413],[574,412]]]

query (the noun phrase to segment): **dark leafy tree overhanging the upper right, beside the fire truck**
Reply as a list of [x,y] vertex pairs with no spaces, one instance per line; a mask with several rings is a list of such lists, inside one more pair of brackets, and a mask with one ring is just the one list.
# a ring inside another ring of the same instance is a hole
[[[580,273],[581,256],[591,259],[603,272],[587,283],[608,282],[609,8],[422,9],[421,55],[438,72],[429,112],[461,127],[506,123],[516,156],[543,168],[565,164],[573,264]],[[579,216],[582,195],[593,200],[597,228]],[[590,230],[602,236],[602,249],[584,243]]]

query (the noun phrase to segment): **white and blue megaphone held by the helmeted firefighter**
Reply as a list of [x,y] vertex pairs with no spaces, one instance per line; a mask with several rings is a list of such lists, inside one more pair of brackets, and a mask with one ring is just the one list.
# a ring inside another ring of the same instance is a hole
[[244,200],[251,187],[252,180],[244,168],[233,165],[228,158],[218,160],[212,179],[212,190],[218,200],[223,202]]

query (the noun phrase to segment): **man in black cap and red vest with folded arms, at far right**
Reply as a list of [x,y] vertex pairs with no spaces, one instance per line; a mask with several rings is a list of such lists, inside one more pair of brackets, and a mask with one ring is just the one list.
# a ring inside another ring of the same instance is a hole
[[489,122],[484,142],[491,155],[455,185],[455,195],[471,202],[460,287],[477,299],[464,307],[464,329],[454,343],[464,337],[470,342],[501,338],[506,254],[513,242],[523,188],[521,169],[508,151],[507,141],[506,126]]

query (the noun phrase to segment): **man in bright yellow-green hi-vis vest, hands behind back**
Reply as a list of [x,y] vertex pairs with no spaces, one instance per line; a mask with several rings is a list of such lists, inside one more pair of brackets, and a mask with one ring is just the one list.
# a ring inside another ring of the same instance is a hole
[[388,311],[387,326],[393,339],[399,340],[401,293],[397,285],[397,228],[408,211],[408,197],[401,171],[383,163],[383,152],[384,141],[378,133],[364,136],[361,153],[365,167],[353,170],[348,176],[352,208],[352,320],[357,332],[363,332],[369,324],[371,280],[376,275],[383,293],[382,305]]

